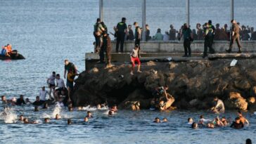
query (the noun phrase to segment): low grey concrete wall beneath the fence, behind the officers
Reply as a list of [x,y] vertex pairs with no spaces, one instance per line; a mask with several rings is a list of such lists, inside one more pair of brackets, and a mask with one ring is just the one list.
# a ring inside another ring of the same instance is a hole
[[[243,52],[256,52],[256,41],[241,41]],[[112,52],[115,52],[116,41],[112,41]],[[134,47],[134,41],[124,42],[124,52],[130,52]],[[212,46],[217,53],[222,53],[229,48],[229,41],[215,41]],[[191,44],[192,53],[202,53],[204,41],[193,41]],[[120,50],[119,50],[120,51]],[[179,53],[183,52],[182,41],[147,41],[141,42],[141,52],[144,53]],[[234,44],[233,51],[238,51],[237,44]]]

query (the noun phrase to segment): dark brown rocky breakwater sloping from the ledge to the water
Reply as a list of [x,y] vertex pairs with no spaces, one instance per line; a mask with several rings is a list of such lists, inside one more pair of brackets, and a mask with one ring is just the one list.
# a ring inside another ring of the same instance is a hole
[[212,98],[218,96],[226,109],[255,110],[256,59],[238,60],[233,67],[230,63],[231,60],[150,61],[141,65],[142,73],[134,75],[129,74],[129,65],[95,65],[79,74],[72,100],[75,105],[107,101],[123,109],[139,103],[140,108],[148,109],[152,91],[167,85],[167,92],[175,98],[173,106],[178,109],[206,110],[212,107]]

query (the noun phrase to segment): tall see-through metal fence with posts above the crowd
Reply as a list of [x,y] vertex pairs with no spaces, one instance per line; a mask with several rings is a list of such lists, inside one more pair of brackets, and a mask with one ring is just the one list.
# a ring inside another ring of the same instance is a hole
[[[151,37],[155,35],[157,29],[161,33],[169,32],[170,25],[179,31],[181,25],[188,23],[191,30],[197,35],[196,25],[202,26],[208,20],[217,27],[219,34],[228,34],[231,28],[231,19],[236,19],[242,25],[241,37],[243,40],[252,39],[251,27],[254,27],[256,20],[255,0],[99,0],[100,17],[108,26],[109,32],[113,32],[113,27],[120,22],[122,17],[127,18],[127,25],[139,22],[148,24],[151,30]],[[101,5],[102,4],[102,5]],[[143,13],[143,6],[146,7]],[[146,18],[143,21],[143,17]],[[133,26],[133,25],[132,25]],[[248,27],[247,27],[248,26]],[[133,27],[134,30],[134,27]],[[177,37],[176,33],[176,37]],[[245,35],[245,36],[244,36]],[[256,35],[256,34],[255,34]],[[248,37],[248,39],[247,39]],[[216,40],[229,40],[226,38]]]

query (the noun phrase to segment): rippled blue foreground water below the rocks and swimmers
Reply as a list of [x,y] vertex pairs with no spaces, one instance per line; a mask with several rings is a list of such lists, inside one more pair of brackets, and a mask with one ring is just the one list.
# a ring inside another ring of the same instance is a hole
[[[3,109],[4,110],[4,109]],[[33,106],[11,107],[1,112],[0,142],[33,143],[40,140],[44,143],[243,143],[246,138],[255,140],[255,115],[245,113],[250,126],[244,129],[231,129],[229,126],[216,129],[191,129],[186,124],[188,117],[198,121],[200,114],[207,119],[214,119],[216,114],[207,112],[172,111],[157,112],[150,110],[127,111],[120,110],[109,117],[108,109],[96,110],[96,107],[83,107],[82,110],[68,112],[67,107],[51,106],[48,110],[34,112]],[[83,122],[90,110],[94,118]],[[18,116],[23,114],[30,121],[39,124],[22,124]],[[62,117],[53,119],[55,114]],[[226,112],[226,116],[234,119],[236,112]],[[49,124],[44,124],[44,118],[51,117]],[[153,119],[167,117],[167,123],[155,124]],[[72,119],[72,125],[67,124]]]

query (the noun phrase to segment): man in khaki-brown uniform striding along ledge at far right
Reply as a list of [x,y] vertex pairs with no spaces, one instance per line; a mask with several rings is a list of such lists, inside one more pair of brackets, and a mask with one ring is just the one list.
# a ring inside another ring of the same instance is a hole
[[233,43],[236,41],[239,51],[238,53],[242,53],[242,46],[240,44],[240,28],[239,25],[236,23],[236,20],[231,20],[232,23],[232,32],[231,32],[231,41],[229,49],[226,50],[227,53],[231,53],[233,48]]

